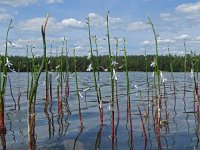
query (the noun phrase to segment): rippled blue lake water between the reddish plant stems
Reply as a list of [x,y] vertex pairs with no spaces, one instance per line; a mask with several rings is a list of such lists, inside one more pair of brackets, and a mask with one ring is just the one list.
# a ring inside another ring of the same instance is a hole
[[[131,113],[133,123],[133,147],[134,149],[158,149],[157,127],[155,126],[152,113],[152,73],[149,73],[150,87],[146,82],[146,73],[129,72],[130,92],[131,92]],[[164,85],[161,84],[162,109],[161,116],[165,118],[165,100],[167,101],[167,112],[169,113],[168,126],[161,128],[161,147],[162,149],[199,149],[199,123],[194,113],[194,82],[190,73],[174,73],[175,94],[170,73],[164,73],[167,78],[164,93]],[[14,98],[18,99],[20,85],[21,98],[20,110],[14,110],[14,102],[11,97],[9,82],[5,96],[5,135],[7,149],[28,149],[30,139],[28,135],[28,115],[27,115],[27,73],[9,73],[12,92]],[[70,74],[68,97],[68,107],[66,97],[63,94],[63,115],[58,115],[57,81],[56,73],[53,73],[53,100],[45,107],[45,74],[42,73],[37,90],[37,100],[35,106],[35,146],[36,149],[112,149],[112,129],[111,129],[111,87],[110,73],[100,73],[100,86],[104,109],[104,124],[101,127],[99,121],[99,109],[94,90],[93,73],[78,73],[79,90],[81,97],[81,113],[83,117],[83,128],[80,128],[78,99],[75,88],[74,74]],[[117,115],[115,105],[115,143],[114,149],[130,148],[130,129],[126,125],[126,79],[125,73],[117,73],[118,77],[118,101],[119,115]],[[20,84],[19,84],[20,79]],[[184,89],[184,83],[186,83]],[[63,82],[63,93],[65,83]],[[87,92],[83,90],[90,87]],[[149,91],[149,92],[148,92]],[[141,92],[141,93],[140,93]],[[148,94],[149,93],[149,94]],[[185,96],[184,96],[185,95]],[[144,106],[149,108],[149,119],[144,118]],[[149,101],[149,102],[148,102]],[[147,141],[144,140],[143,128],[137,106],[142,111],[144,124],[146,127]],[[154,111],[156,106],[154,106]],[[155,112],[154,112],[155,113]]]

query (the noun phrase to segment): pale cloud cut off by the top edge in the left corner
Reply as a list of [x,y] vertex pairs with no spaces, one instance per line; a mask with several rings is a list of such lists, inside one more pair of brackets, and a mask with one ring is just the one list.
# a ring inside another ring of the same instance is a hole
[[36,3],[37,0],[1,0],[0,4],[11,5],[13,7],[27,6],[32,3]]

